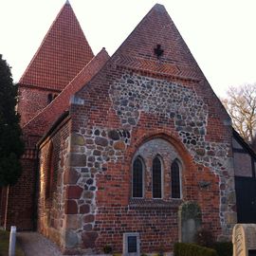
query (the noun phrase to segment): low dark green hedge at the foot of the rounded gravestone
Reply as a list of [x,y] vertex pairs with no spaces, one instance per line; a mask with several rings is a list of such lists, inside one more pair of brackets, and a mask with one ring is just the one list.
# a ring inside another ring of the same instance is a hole
[[175,243],[174,256],[218,256],[214,249],[195,244]]

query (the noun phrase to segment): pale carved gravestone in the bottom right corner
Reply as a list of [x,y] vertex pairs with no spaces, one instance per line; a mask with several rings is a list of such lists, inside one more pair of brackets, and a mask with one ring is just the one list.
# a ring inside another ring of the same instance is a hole
[[233,256],[256,256],[256,224],[236,224],[232,243]]

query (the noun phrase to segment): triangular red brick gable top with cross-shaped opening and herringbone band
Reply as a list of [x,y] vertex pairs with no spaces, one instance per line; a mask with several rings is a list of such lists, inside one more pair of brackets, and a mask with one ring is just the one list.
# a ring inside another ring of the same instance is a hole
[[[157,56],[155,51],[162,52]],[[201,79],[202,73],[164,6],[156,4],[119,47],[114,60],[134,69]]]

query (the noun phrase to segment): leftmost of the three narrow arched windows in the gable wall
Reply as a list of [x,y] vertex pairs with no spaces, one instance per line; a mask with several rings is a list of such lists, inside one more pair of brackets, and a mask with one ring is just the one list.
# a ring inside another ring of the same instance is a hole
[[143,163],[139,157],[133,164],[133,197],[143,197]]

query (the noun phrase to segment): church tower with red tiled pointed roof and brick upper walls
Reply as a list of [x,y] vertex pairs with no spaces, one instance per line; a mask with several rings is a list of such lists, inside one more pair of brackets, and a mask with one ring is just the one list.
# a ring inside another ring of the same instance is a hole
[[22,126],[52,101],[94,57],[68,1],[19,81]]

